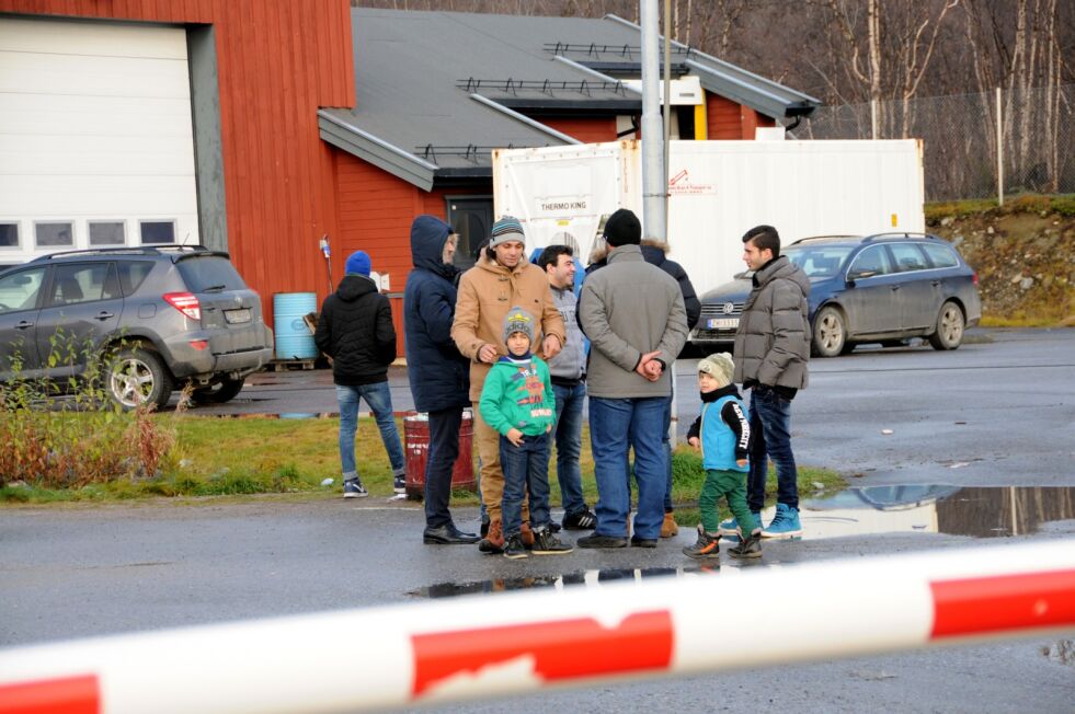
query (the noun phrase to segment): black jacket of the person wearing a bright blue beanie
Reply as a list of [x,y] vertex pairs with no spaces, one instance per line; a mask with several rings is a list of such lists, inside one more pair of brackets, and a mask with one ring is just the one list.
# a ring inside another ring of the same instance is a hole
[[386,381],[388,366],[396,359],[396,327],[388,298],[368,277],[344,277],[321,306],[313,342],[332,358],[336,384]]

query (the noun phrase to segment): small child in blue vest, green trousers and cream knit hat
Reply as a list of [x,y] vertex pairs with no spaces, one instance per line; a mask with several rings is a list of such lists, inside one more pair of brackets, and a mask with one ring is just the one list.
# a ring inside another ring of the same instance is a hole
[[[698,388],[701,390],[701,416],[687,431],[687,442],[701,449],[706,483],[698,497],[701,523],[698,541],[683,549],[696,560],[720,557],[720,517],[717,502],[723,496],[742,527],[742,540],[729,550],[732,557],[762,557],[762,528],[746,506],[747,445],[751,424],[743,400],[732,383],[735,365],[732,358],[717,353],[698,362]],[[750,536],[745,536],[750,533]]]

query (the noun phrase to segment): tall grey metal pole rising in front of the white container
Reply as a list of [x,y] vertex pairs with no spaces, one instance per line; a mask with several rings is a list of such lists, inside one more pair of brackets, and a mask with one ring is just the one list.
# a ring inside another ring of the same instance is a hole
[[661,156],[657,0],[641,0],[642,25],[642,237],[665,239],[664,197],[668,176]]

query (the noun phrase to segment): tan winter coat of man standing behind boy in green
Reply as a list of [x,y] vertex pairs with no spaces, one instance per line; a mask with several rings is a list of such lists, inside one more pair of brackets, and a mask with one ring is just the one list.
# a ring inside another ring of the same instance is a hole
[[513,307],[519,306],[537,320],[530,352],[545,359],[541,343],[545,335],[556,335],[560,344],[567,342],[563,319],[552,300],[549,279],[545,272],[526,260],[519,261],[514,270],[490,261],[484,253],[474,267],[459,279],[456,299],[456,316],[451,323],[451,338],[459,352],[470,359],[470,401],[481,399],[481,388],[492,365],[478,361],[482,345],[496,346],[498,355],[506,355],[504,344],[504,318]]

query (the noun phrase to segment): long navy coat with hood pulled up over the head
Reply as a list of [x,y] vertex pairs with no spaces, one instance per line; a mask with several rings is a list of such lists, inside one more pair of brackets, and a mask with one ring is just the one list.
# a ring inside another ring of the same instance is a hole
[[451,339],[459,268],[444,263],[450,228],[439,218],[419,216],[411,224],[411,261],[403,291],[407,371],[419,412],[470,405],[470,361]]

